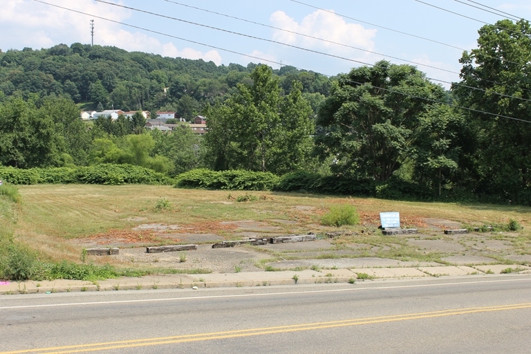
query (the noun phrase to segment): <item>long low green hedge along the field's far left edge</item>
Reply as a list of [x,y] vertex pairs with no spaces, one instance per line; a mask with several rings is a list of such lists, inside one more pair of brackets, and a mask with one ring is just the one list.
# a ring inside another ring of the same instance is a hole
[[51,169],[16,169],[0,166],[0,179],[13,185],[38,183],[82,183],[96,185],[169,185],[174,181],[151,169],[132,165],[100,164],[82,167],[56,167]]

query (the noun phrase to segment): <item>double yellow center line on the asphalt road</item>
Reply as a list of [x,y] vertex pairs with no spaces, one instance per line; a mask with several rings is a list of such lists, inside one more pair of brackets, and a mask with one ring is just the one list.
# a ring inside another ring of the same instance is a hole
[[194,335],[176,335],[171,337],[132,339],[118,342],[103,342],[94,344],[81,344],[73,346],[56,346],[50,348],[36,348],[21,351],[6,351],[0,354],[22,354],[22,353],[42,353],[42,354],[66,354],[85,353],[90,351],[104,351],[110,349],[134,348],[138,346],[157,346],[163,344],[176,344],[185,342],[198,342],[211,339],[229,339],[236,337],[248,337],[252,335],[268,335],[274,333],[298,332],[301,330],[316,330],[326,328],[337,328],[344,326],[358,326],[362,324],[379,324],[384,322],[407,321],[411,319],[427,319],[434,317],[466,315],[470,313],[487,313],[493,311],[520,310],[531,308],[531,303],[512,304],[502,306],[485,306],[478,308],[456,308],[452,310],[434,311],[428,313],[411,313],[406,315],[392,315],[382,317],[368,317],[362,319],[344,319],[342,321],[317,322],[310,324],[294,324],[290,326],[274,326],[265,328],[251,328],[244,330],[228,330],[224,332],[198,333]]

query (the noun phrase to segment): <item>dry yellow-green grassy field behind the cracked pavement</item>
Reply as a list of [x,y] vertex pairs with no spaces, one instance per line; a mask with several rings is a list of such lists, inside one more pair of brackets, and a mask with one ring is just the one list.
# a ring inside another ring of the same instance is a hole
[[[423,218],[441,218],[467,225],[507,224],[510,219],[524,229],[516,234],[489,234],[490,239],[508,240],[521,254],[530,254],[531,208],[503,205],[456,203],[413,203],[373,198],[333,197],[274,192],[229,192],[176,189],[148,185],[32,185],[19,187],[22,202],[8,212],[0,208],[3,220],[17,219],[15,238],[51,261],[80,261],[81,248],[71,242],[97,234],[131,230],[140,224],[167,224],[187,227],[189,232],[213,233],[225,239],[237,239],[226,221],[263,221],[281,228],[281,232],[307,233],[335,230],[319,225],[331,205],[349,203],[360,213],[361,224],[343,227],[360,233],[335,241],[337,248],[355,243],[393,245],[366,255],[391,258],[420,257],[399,238],[382,239],[374,234],[379,212],[400,212],[403,227],[426,227]],[[258,198],[238,203],[246,193]],[[0,205],[1,207],[1,205]],[[283,221],[289,221],[288,223]],[[11,225],[11,224],[10,224]],[[371,232],[362,234],[362,231]],[[472,239],[474,240],[474,239]],[[154,242],[156,243],[156,242]],[[398,248],[397,248],[398,247]],[[427,259],[437,259],[436,252]],[[426,259],[426,258],[425,258]]]

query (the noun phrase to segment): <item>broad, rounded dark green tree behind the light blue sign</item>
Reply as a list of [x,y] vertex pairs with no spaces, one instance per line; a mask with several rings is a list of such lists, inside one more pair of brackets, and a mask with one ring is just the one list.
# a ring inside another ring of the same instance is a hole
[[415,67],[386,61],[339,76],[331,91],[319,109],[317,149],[334,156],[335,173],[374,180],[388,180],[411,157],[413,131],[430,106],[422,98],[444,97]]

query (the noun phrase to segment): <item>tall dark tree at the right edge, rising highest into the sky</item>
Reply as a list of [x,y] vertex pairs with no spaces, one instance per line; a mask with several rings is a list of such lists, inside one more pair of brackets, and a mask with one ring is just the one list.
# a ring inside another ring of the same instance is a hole
[[525,121],[531,121],[531,26],[525,20],[502,20],[478,33],[478,48],[460,59],[462,80],[452,87],[454,94],[460,105],[517,120],[467,113],[477,131],[479,151],[479,183],[471,187],[530,203],[526,195],[531,186],[531,123]]

